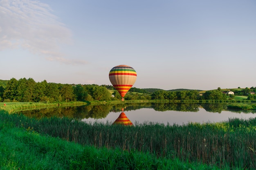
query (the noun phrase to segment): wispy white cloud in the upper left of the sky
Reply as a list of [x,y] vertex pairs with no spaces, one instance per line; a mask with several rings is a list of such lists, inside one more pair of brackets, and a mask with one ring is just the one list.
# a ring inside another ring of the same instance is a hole
[[72,32],[52,13],[39,1],[0,0],[0,50],[21,46],[52,61],[86,63],[65,58],[60,45],[72,42]]

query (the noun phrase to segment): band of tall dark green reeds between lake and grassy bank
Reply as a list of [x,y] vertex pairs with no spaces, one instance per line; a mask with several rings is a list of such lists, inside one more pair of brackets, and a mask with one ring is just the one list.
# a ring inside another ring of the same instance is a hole
[[256,119],[182,126],[135,122],[134,126],[122,126],[70,118],[36,120],[2,113],[0,121],[95,148],[119,148],[219,168],[256,168]]

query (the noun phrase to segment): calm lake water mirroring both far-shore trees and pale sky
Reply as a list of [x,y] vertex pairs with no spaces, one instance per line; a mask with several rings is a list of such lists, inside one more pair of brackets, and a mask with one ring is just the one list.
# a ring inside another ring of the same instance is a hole
[[27,117],[69,117],[84,122],[114,122],[124,112],[132,124],[155,122],[187,124],[189,122],[222,122],[229,118],[255,118],[255,111],[227,110],[226,104],[197,103],[128,103],[79,107],[52,107],[21,111]]

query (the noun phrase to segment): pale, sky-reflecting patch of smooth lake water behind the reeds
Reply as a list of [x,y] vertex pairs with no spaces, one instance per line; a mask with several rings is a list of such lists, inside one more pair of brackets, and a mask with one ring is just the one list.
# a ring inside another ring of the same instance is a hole
[[[120,112],[121,113],[121,112]],[[106,118],[101,119],[83,119],[85,122],[114,122],[120,113],[110,112]],[[155,111],[152,108],[143,108],[133,111],[125,111],[127,118],[133,123],[143,123],[143,122],[158,122],[163,124],[187,124],[188,122],[222,122],[229,120],[229,118],[256,118],[255,113],[236,113],[232,111],[221,111],[209,112],[203,108],[199,108],[199,111]]]

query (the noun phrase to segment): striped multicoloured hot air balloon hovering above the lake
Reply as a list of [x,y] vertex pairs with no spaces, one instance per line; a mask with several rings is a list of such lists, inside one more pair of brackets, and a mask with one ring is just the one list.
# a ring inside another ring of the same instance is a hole
[[122,96],[122,100],[124,100],[124,96],[135,83],[136,78],[137,73],[128,65],[117,65],[109,72],[109,80]]

